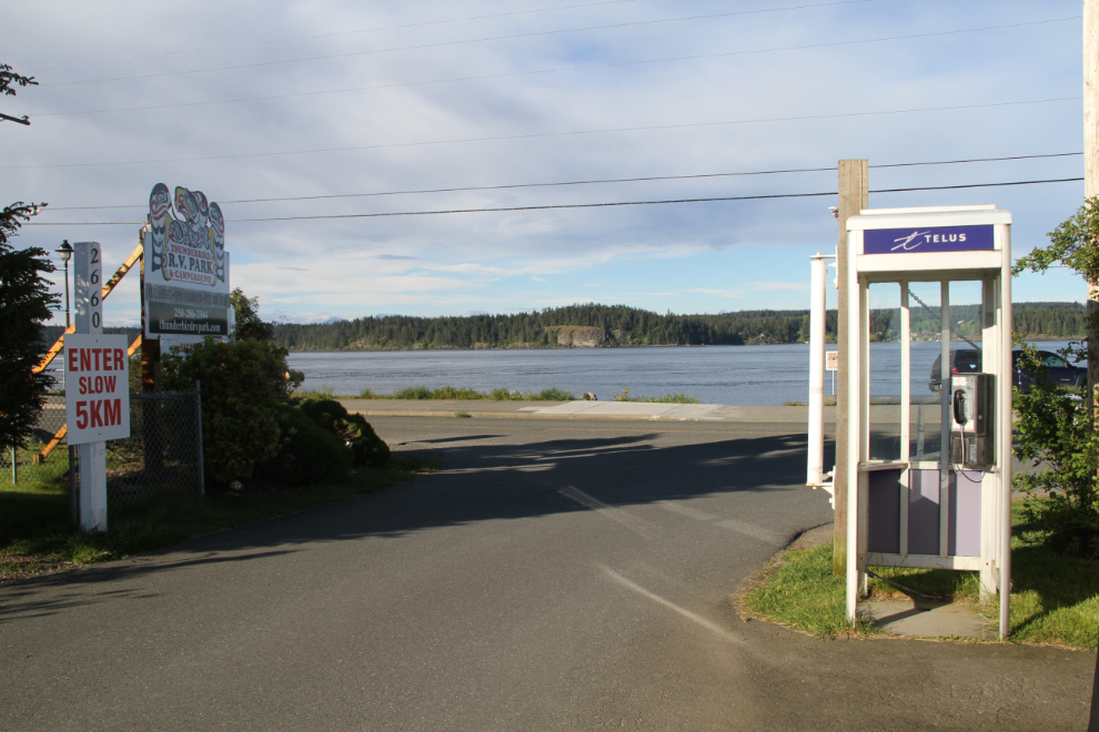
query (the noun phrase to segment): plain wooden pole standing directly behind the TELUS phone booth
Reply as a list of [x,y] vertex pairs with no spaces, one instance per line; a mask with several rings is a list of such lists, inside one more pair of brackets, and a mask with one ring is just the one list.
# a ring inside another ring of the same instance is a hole
[[[1099,2],[1099,0],[1095,0]],[[858,466],[847,465],[850,400],[847,389],[847,339],[858,334],[847,332],[847,220],[870,205],[869,164],[866,160],[839,161],[839,246],[836,248],[836,277],[839,285],[839,313],[836,323],[839,368],[836,374],[836,469],[833,474],[833,501],[836,506],[835,549],[831,571],[836,577],[847,576],[847,471]]]

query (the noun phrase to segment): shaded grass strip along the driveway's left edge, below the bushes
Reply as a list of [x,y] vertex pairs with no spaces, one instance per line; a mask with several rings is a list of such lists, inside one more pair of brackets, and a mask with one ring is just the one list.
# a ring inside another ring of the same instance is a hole
[[69,518],[59,480],[0,488],[0,580],[64,566],[122,559],[210,533],[384,490],[438,469],[438,460],[395,454],[384,469],[326,484],[240,496],[168,497],[111,514],[109,530],[85,533]]

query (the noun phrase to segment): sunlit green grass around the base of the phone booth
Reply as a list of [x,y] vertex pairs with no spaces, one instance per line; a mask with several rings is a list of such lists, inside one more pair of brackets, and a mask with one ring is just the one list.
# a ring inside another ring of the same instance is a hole
[[[1035,533],[1036,527],[1026,522],[1022,508],[1024,501],[1016,501],[1012,510],[1010,640],[1095,650],[1099,632],[1099,565],[1035,543],[1040,537]],[[833,577],[831,556],[830,541],[782,553],[748,581],[739,602],[748,614],[815,636],[874,632],[861,622],[854,628],[847,623],[845,580]],[[977,572],[899,567],[871,570],[922,594],[975,606],[990,622],[998,621],[998,600],[980,602]],[[910,597],[874,579],[869,589],[871,599]]]

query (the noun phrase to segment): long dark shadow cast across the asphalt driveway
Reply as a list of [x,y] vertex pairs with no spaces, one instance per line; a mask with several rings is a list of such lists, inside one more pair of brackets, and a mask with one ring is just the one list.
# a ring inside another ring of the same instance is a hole
[[[480,521],[591,510],[563,489],[578,490],[612,507],[715,494],[807,491],[804,434],[745,438],[724,434],[713,441],[672,446],[657,445],[661,436],[641,433],[505,445],[481,443],[488,438],[484,435],[461,438],[458,444],[452,438],[423,440],[441,446],[431,451],[442,458],[443,469],[437,474],[128,560],[16,581],[2,588],[0,623],[113,597],[80,590],[107,580],[204,563],[249,562],[293,553],[315,542],[400,538]],[[821,504],[828,508],[827,501]],[[749,519],[756,520],[746,515],[745,520]],[[72,592],[39,597],[41,590],[57,587],[69,587]],[[140,597],[138,590],[132,591]]]

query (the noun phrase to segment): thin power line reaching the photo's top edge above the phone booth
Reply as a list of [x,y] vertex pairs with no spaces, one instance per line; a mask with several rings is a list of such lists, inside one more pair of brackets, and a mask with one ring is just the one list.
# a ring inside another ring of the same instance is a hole
[[420,51],[420,50],[423,50],[423,49],[435,49],[435,48],[444,48],[444,47],[451,47],[451,45],[465,45],[465,44],[468,44],[468,43],[486,43],[488,41],[507,41],[507,40],[515,40],[515,39],[520,39],[520,38],[536,38],[536,37],[542,37],[542,35],[559,35],[562,33],[581,33],[581,32],[593,31],[593,30],[613,30],[613,29],[618,29],[618,28],[635,28],[635,27],[638,27],[638,26],[656,26],[656,24],[661,24],[661,23],[678,23],[678,22],[686,22],[686,21],[690,21],[690,20],[710,20],[710,19],[714,19],[714,18],[729,18],[729,17],[735,17],[735,16],[755,16],[755,14],[760,14],[760,13],[780,12],[780,11],[786,11],[786,10],[807,10],[807,9],[813,9],[813,8],[829,8],[829,7],[834,7],[834,6],[848,6],[848,4],[857,4],[857,3],[864,3],[864,2],[874,2],[874,0],[836,0],[835,2],[821,2],[821,3],[804,4],[804,6],[788,6],[788,7],[785,7],[785,8],[767,8],[767,9],[764,9],[764,10],[736,10],[736,11],[730,11],[730,12],[717,12],[717,13],[706,13],[706,14],[700,14],[700,16],[687,16],[687,17],[684,17],[684,18],[661,18],[661,19],[657,19],[657,20],[636,20],[636,21],[631,21],[631,22],[625,22],[625,23],[609,23],[609,24],[606,24],[606,26],[586,26],[586,27],[583,27],[583,28],[563,28],[563,29],[559,29],[559,30],[550,30],[550,31],[531,31],[531,32],[527,32],[527,33],[513,33],[511,35],[490,35],[490,37],[486,37],[486,38],[464,39],[464,40],[461,40],[461,41],[442,41],[442,42],[437,42],[437,43],[420,43],[420,44],[416,44],[416,45],[401,45],[401,47],[390,48],[390,49],[371,49],[371,50],[366,50],[366,51],[350,51],[350,52],[346,52],[346,53],[327,53],[327,54],[324,54],[324,55],[302,57],[302,58],[298,58],[298,59],[285,59],[285,60],[282,60],[282,61],[259,61],[259,62],[255,62],[255,63],[242,63],[242,64],[226,65],[226,67],[211,67],[211,68],[208,68],[208,69],[193,69],[193,70],[189,70],[189,71],[165,71],[165,72],[152,73],[152,74],[141,74],[141,75],[132,75],[132,77],[117,77],[117,78],[113,78],[113,79],[87,79],[87,80],[83,80],[83,81],[61,81],[61,82],[43,83],[42,85],[43,87],[61,87],[61,85],[68,85],[68,84],[88,84],[88,83],[99,83],[99,82],[107,82],[107,81],[129,81],[129,80],[132,80],[132,79],[154,79],[154,78],[159,78],[159,77],[177,77],[177,75],[192,74],[192,73],[206,73],[206,72],[212,72],[212,71],[231,71],[231,70],[234,70],[234,69],[255,69],[258,67],[273,67],[273,65],[282,65],[282,64],[286,64],[286,63],[301,63],[301,62],[304,62],[304,61],[327,61],[327,60],[331,60],[331,59],[346,59],[346,58],[350,58],[350,57],[372,55],[372,54],[375,54],[375,53],[392,53],[392,52],[396,52],[396,51]]

